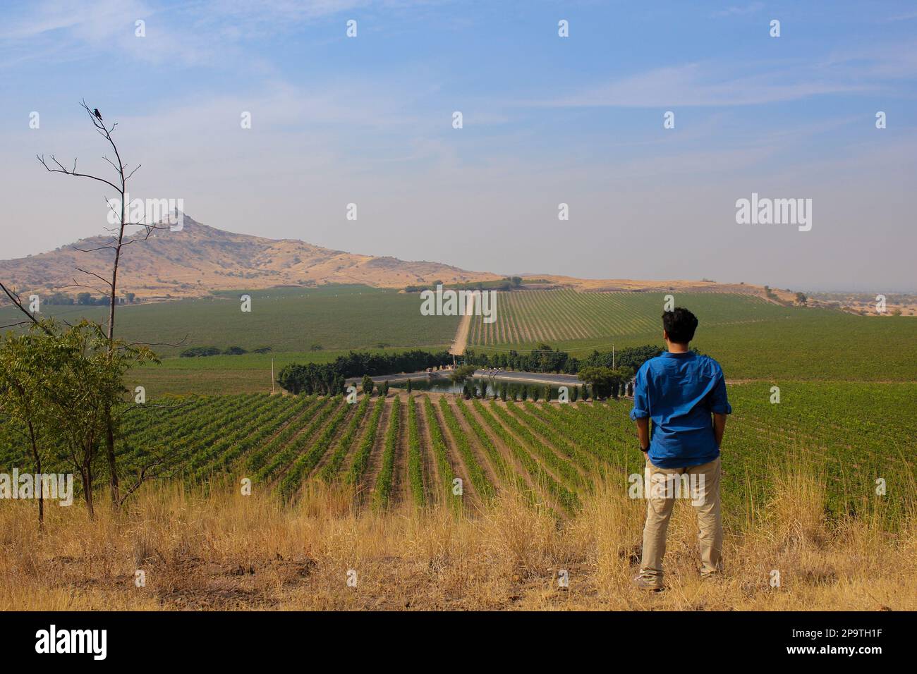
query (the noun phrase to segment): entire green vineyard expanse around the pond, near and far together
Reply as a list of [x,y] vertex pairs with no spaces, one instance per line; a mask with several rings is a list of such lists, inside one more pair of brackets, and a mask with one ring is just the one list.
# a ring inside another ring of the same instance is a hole
[[[576,511],[597,474],[624,481],[640,470],[629,401],[495,403],[400,393],[394,403],[392,393],[351,405],[339,397],[268,395],[271,361],[277,371],[380,342],[442,348],[458,318],[421,316],[418,295],[361,286],[251,294],[251,315],[238,311],[238,293],[124,309],[127,338],[168,341],[183,330],[194,335],[189,345],[273,349],[193,359],[159,349],[171,357],[127,378],[147,389],[150,403],[127,408],[119,447],[126,467],[178,450],[174,477],[244,475],[287,499],[313,481],[342,481],[375,507],[442,501],[458,477],[466,485],[462,503],[514,489],[558,516]],[[476,323],[472,339],[485,349],[547,341],[580,356],[612,343],[661,344],[662,303],[662,293],[501,293],[498,322]],[[774,466],[791,459],[823,474],[834,513],[882,503],[883,516],[895,520],[914,493],[917,454],[910,318],[784,307],[746,295],[679,294],[676,303],[699,316],[694,346],[718,359],[730,381],[734,414],[723,447],[729,516],[739,520],[748,503],[767,503]],[[313,342],[323,348],[307,350]],[[773,386],[778,404],[770,402]],[[6,436],[2,447],[0,464],[22,462],[16,437]],[[888,485],[880,502],[879,478]]]

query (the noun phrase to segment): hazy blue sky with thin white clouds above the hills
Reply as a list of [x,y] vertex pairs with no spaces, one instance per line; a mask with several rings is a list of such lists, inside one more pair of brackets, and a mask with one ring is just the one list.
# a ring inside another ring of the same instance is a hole
[[[105,171],[85,98],[143,164],[134,195],[215,227],[472,270],[917,290],[913,2],[0,11],[2,258],[104,226],[105,193],[34,159]],[[812,198],[812,231],[737,225],[753,192]]]

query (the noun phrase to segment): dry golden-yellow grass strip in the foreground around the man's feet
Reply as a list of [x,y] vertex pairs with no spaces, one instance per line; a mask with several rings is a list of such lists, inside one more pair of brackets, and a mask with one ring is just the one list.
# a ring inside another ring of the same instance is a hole
[[[314,488],[293,506],[212,485],[158,485],[127,513],[105,505],[0,509],[0,611],[80,609],[914,610],[917,527],[879,514],[828,522],[816,474],[790,468],[746,521],[727,521],[726,573],[702,583],[696,520],[678,503],[668,589],[636,591],[643,502],[599,481],[558,523],[521,494],[485,510],[355,510],[347,492]],[[912,503],[912,501],[911,501]],[[135,571],[146,574],[145,587]],[[348,570],[356,586],[348,586]],[[569,588],[558,587],[558,571]],[[772,569],[780,585],[771,587]]]

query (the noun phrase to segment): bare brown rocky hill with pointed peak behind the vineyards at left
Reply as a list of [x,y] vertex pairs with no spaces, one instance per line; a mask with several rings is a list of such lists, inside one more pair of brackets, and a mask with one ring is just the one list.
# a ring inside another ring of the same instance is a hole
[[[61,290],[101,294],[103,283],[77,271],[106,277],[114,252],[96,249],[111,238],[91,237],[28,258],[0,260],[0,281],[18,292]],[[83,250],[81,250],[83,249]],[[138,298],[200,296],[212,290],[260,289],[277,285],[365,283],[403,288],[418,283],[492,281],[486,271],[465,271],[439,262],[359,255],[292,238],[263,238],[209,227],[184,215],[182,231],[159,230],[122,249],[119,293]],[[66,287],[83,283],[98,288]]]

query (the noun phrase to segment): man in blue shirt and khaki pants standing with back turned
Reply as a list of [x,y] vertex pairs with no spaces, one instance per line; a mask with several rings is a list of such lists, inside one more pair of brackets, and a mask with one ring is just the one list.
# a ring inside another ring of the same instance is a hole
[[662,315],[662,326],[667,350],[647,360],[637,371],[631,410],[652,485],[646,494],[640,574],[634,582],[641,589],[654,591],[662,589],[666,531],[675,504],[670,487],[682,476],[687,476],[696,490],[691,494],[691,503],[697,510],[701,530],[701,576],[711,578],[723,569],[720,444],[726,414],[733,411],[726,400],[720,364],[688,348],[697,329],[697,317],[676,307]]

